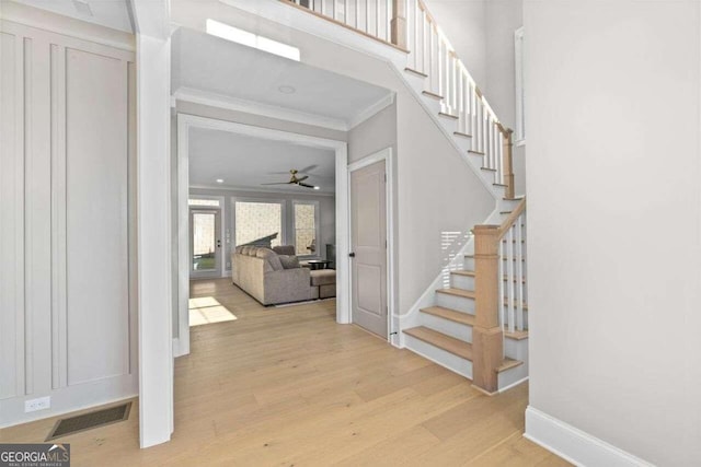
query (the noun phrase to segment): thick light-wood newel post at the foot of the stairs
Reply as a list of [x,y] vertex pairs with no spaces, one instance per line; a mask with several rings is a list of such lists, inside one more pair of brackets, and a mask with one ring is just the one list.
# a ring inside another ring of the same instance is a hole
[[476,225],[474,233],[475,324],[472,328],[472,383],[487,392],[498,390],[496,369],[504,359],[499,325],[499,226]]

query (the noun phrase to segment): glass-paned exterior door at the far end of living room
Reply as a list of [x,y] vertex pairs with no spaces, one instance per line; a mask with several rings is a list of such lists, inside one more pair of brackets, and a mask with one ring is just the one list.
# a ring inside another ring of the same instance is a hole
[[221,223],[218,209],[189,211],[189,277],[221,276]]

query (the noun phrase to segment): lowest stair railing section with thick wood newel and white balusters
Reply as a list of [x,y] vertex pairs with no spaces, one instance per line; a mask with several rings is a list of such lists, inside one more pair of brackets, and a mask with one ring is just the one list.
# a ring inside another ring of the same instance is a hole
[[[475,225],[472,230],[475,272],[472,382],[490,394],[498,390],[497,369],[504,362],[505,329],[507,332],[525,329],[526,296],[521,283],[526,277],[526,244],[521,244],[526,240],[525,223],[524,198],[501,225]],[[519,266],[502,266],[515,262],[515,259]],[[514,281],[521,285],[505,285],[505,282],[516,283]]]

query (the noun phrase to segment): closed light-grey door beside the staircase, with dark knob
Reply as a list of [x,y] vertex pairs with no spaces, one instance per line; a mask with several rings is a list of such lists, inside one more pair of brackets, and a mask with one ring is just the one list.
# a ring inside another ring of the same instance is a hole
[[387,323],[384,161],[350,173],[353,323],[383,338]]

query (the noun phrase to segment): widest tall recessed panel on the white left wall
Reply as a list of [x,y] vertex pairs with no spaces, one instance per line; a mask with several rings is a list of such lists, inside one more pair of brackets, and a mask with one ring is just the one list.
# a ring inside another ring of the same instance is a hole
[[66,48],[68,385],[129,372],[128,73]]

